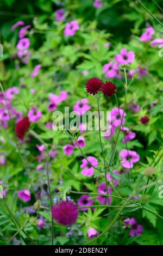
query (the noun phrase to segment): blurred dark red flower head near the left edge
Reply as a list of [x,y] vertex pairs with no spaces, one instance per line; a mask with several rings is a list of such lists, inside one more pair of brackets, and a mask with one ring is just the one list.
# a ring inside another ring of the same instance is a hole
[[23,139],[25,133],[28,131],[30,122],[28,117],[24,117],[22,120],[18,121],[15,126],[15,132],[19,139]]

